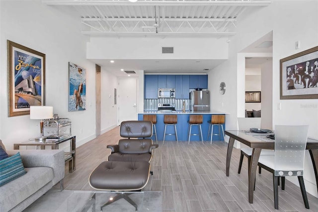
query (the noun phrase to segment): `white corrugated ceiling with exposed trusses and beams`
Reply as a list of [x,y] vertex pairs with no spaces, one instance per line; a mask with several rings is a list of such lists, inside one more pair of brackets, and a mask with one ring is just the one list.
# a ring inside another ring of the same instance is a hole
[[[271,0],[43,0],[72,6],[89,35],[232,36],[246,8],[268,6]],[[248,14],[244,14],[248,15]]]

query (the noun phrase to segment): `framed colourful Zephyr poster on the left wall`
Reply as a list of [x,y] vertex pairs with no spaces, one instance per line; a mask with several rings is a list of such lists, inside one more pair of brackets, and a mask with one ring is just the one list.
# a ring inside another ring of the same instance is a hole
[[7,40],[8,117],[45,105],[45,54]]

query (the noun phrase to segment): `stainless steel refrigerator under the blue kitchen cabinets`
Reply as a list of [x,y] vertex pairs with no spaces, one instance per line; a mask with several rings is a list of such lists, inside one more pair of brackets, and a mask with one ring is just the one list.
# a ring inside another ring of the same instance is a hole
[[190,92],[191,111],[210,111],[210,92],[191,91]]

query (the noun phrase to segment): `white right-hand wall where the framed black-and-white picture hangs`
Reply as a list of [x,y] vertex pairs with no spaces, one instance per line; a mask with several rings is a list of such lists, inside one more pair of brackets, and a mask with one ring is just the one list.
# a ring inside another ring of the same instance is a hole
[[[299,9],[300,6],[306,9]],[[263,35],[273,31],[273,65],[272,65],[272,110],[275,124],[309,124],[309,136],[318,139],[318,101],[316,100],[280,100],[279,97],[279,60],[318,45],[318,8],[317,0],[275,0],[257,12],[251,11],[248,18],[238,23],[238,34],[231,39],[229,60],[209,73],[209,85],[213,108],[230,112],[226,128],[237,129],[237,117],[243,108],[244,89],[242,77],[242,49]],[[244,11],[249,12],[249,11]],[[294,15],[297,14],[297,15]],[[297,29],[297,30],[295,30]],[[304,33],[306,32],[306,33]],[[295,50],[295,41],[300,40],[301,48]],[[238,67],[238,68],[237,68]],[[226,82],[227,92],[220,95],[218,85]],[[215,85],[215,86],[214,86]],[[222,103],[225,103],[224,106]],[[281,110],[277,105],[281,104]],[[295,111],[297,111],[295,113]],[[318,197],[315,175],[309,155],[306,155],[305,171],[306,190]],[[297,181],[297,179],[296,179]],[[297,184],[297,182],[293,181]]]

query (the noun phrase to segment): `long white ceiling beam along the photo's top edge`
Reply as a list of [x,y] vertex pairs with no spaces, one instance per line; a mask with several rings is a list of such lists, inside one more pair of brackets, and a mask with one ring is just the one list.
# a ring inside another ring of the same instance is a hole
[[210,1],[210,0],[196,0],[196,1],[176,1],[176,0],[139,0],[137,2],[130,2],[128,0],[42,0],[47,5],[72,5],[72,6],[95,6],[95,5],[120,5],[120,6],[149,6],[149,5],[169,5],[169,6],[268,6],[271,0],[224,0],[224,1]]

